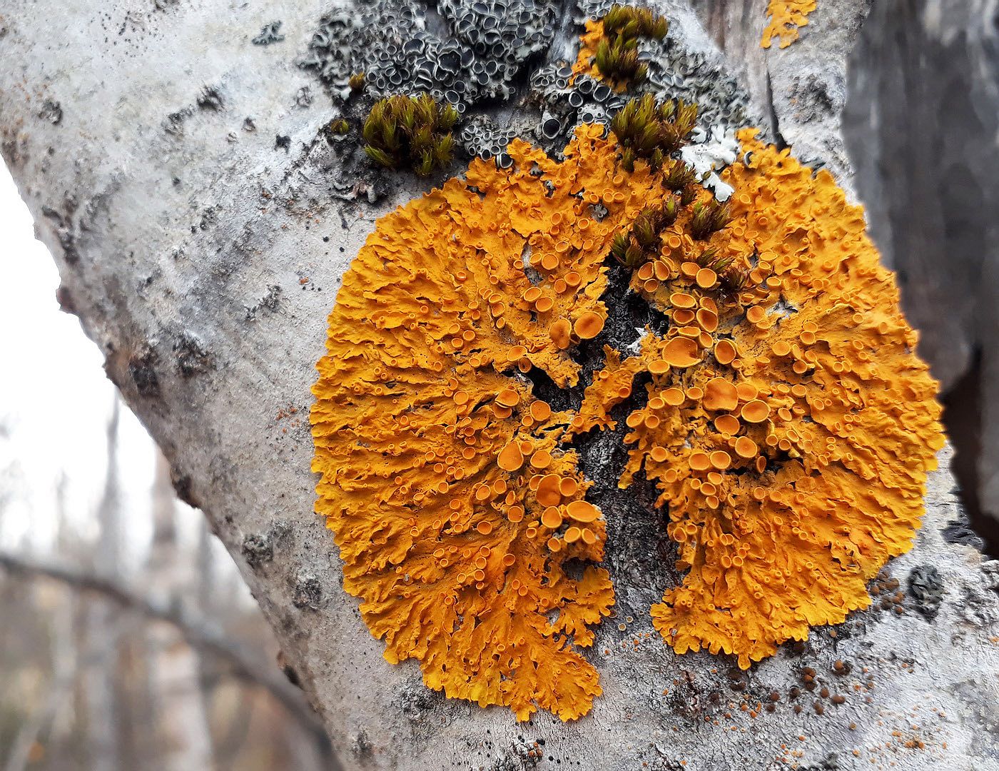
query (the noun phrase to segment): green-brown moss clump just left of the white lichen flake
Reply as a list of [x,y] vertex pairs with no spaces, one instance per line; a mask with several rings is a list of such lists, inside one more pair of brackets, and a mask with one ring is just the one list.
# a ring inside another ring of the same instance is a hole
[[[697,121],[697,105],[672,99],[659,104],[651,94],[631,99],[610,121],[620,147],[621,165],[634,170],[637,158],[658,170],[690,136]],[[674,167],[675,169],[675,167]],[[682,170],[678,174],[686,174]],[[673,183],[679,182],[679,178]]]

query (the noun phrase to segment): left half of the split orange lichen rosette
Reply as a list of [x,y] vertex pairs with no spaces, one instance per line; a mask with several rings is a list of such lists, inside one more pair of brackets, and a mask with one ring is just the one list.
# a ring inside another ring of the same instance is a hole
[[313,389],[317,511],[386,658],[521,720],[589,709],[600,686],[577,648],[613,603],[592,564],[604,520],[559,443],[572,415],[522,374],[576,383],[566,349],[603,325],[610,239],[658,194],[602,134],[580,128],[561,163],[514,141],[511,170],[474,161],[383,217]]

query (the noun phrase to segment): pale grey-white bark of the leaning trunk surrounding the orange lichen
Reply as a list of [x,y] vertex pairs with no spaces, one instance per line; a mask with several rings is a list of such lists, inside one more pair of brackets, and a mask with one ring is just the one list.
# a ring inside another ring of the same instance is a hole
[[[866,3],[820,0],[798,43],[765,54],[754,48],[761,5],[719,4],[715,34],[745,63],[774,133],[848,184],[838,113]],[[690,8],[661,7],[689,46],[714,55]],[[815,630],[748,673],[662,645],[647,611],[663,578],[636,567],[654,545],[623,527],[609,531],[628,568],[614,575],[617,618],[593,646],[604,693],[585,718],[517,725],[506,710],[430,691],[412,662],[386,663],[312,513],[309,388],[340,276],[374,220],[423,184],[351,179],[319,138],[330,103],[296,58],[326,2],[0,9],[3,155],[59,264],[63,305],[104,351],[180,495],[243,566],[345,767],[713,771],[784,767],[783,757],[809,768],[999,768],[999,570],[954,542],[967,533],[945,470],[931,479],[916,547],[887,569],[898,602]],[[276,20],[284,40],[251,43]],[[556,45],[574,34],[563,29]],[[354,182],[355,193],[392,192],[344,200]],[[927,567],[935,578],[923,581]],[[833,673],[836,660],[848,674]],[[819,686],[795,699],[803,667]],[[772,712],[757,707],[771,694]]]

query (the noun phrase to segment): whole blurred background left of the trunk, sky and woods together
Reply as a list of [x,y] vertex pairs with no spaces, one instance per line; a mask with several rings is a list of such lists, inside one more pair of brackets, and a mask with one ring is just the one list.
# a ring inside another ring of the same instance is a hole
[[0,165],[0,769],[328,769],[270,628]]

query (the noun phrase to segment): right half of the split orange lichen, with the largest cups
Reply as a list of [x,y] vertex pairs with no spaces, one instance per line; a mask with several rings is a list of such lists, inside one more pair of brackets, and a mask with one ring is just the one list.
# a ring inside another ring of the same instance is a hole
[[[869,604],[866,581],[911,546],[943,436],[861,210],[828,172],[754,132],[740,139],[752,160],[724,174],[728,226],[705,245],[681,214],[632,276],[672,326],[607,357],[571,430],[611,426],[621,384],[651,373],[646,406],[626,418],[620,484],[639,471],[654,481],[689,571],[653,623],[678,653],[706,647],[748,667]],[[708,260],[724,265],[717,283]]]

